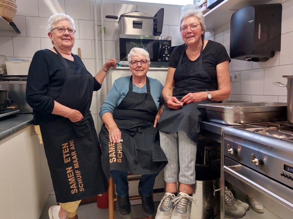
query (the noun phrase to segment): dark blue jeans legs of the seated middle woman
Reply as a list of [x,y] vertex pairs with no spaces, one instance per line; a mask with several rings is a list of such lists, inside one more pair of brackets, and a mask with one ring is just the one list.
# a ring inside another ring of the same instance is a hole
[[[117,194],[120,197],[127,196],[129,191],[127,182],[128,173],[125,171],[112,170],[111,174],[116,185]],[[139,189],[142,192],[142,194],[144,194],[147,197],[151,196],[155,184],[155,179],[158,174],[159,173],[142,175],[141,180],[139,180]]]

